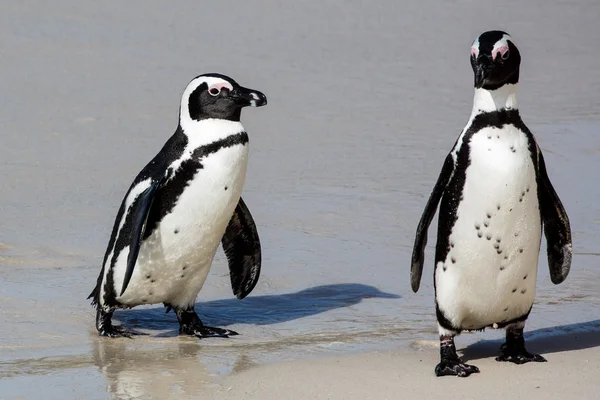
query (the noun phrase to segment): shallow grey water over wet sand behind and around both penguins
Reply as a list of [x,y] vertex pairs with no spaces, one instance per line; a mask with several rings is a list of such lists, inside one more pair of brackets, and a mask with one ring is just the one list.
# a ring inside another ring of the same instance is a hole
[[[564,284],[540,257],[528,330],[600,332],[600,3],[140,4],[0,6],[0,399],[181,397],[264,362],[435,341],[435,236],[413,294],[414,230],[470,112],[468,47],[498,27],[574,237]],[[240,335],[180,338],[153,306],[115,314],[151,336],[100,339],[85,298],[118,204],[209,71],[269,98],[243,117],[261,280],[236,300],[219,251],[196,306]]]

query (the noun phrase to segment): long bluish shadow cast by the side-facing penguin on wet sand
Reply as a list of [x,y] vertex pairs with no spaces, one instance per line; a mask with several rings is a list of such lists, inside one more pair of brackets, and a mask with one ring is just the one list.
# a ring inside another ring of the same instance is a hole
[[[195,309],[207,325],[271,325],[350,307],[371,298],[399,299],[400,296],[360,283],[341,283],[315,286],[294,293],[250,295],[243,300],[229,298],[199,302]],[[172,313],[165,315],[162,307],[126,310],[115,313],[115,319],[141,329],[172,329],[177,324],[175,316]]]

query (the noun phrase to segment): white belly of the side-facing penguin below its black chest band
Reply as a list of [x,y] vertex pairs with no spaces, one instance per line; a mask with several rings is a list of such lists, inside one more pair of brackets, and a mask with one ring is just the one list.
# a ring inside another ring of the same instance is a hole
[[[242,193],[248,146],[234,145],[202,160],[198,170],[140,248],[122,304],[192,305]],[[119,255],[115,286],[122,282],[129,249]]]

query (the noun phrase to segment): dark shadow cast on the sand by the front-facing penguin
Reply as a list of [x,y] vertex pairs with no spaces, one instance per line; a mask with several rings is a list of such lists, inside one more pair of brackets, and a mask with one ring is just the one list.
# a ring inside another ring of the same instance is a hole
[[[504,340],[482,340],[462,351],[465,362],[495,357]],[[527,350],[541,355],[600,346],[600,319],[525,332]]]

